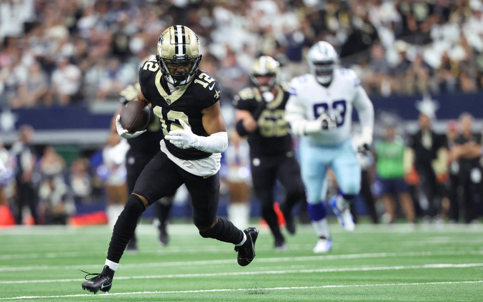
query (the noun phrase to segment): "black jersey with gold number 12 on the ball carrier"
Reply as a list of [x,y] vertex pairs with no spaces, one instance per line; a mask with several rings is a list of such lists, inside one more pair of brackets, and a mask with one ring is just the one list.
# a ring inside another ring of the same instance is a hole
[[[153,113],[161,122],[163,139],[171,130],[183,129],[182,119],[196,135],[208,136],[201,111],[220,99],[220,85],[208,73],[198,70],[193,80],[170,93],[163,73],[155,60],[149,60],[139,69],[139,84],[144,97],[151,103]],[[144,134],[143,134],[144,135]],[[199,160],[211,156],[196,148],[181,149],[165,139],[169,152],[182,160]]]

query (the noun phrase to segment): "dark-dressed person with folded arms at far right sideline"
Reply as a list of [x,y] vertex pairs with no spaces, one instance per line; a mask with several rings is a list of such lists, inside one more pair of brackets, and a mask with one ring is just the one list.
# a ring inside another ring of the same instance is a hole
[[464,221],[475,221],[476,211],[474,197],[481,200],[481,133],[473,132],[473,116],[469,113],[461,114],[459,118],[461,134],[455,139],[451,147],[449,159],[458,161],[459,184],[463,192]]

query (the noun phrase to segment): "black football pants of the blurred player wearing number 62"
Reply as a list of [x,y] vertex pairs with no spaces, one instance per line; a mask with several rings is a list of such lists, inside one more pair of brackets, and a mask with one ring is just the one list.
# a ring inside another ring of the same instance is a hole
[[279,156],[251,155],[252,180],[255,194],[262,204],[262,217],[267,221],[275,241],[283,241],[273,209],[275,182],[278,179],[285,188],[285,202],[281,205],[289,213],[299,200],[305,200],[305,189],[300,167],[293,152]]

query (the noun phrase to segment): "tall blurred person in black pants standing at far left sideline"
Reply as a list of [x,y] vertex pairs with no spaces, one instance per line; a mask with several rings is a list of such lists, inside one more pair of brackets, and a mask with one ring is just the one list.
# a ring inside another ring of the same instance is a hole
[[11,154],[17,158],[18,163],[15,177],[17,196],[14,216],[17,224],[22,224],[22,210],[24,206],[28,206],[34,223],[37,223],[37,192],[32,179],[36,162],[36,155],[31,145],[34,129],[30,125],[22,125],[18,133],[19,136],[10,150]]

